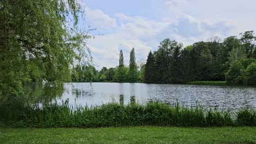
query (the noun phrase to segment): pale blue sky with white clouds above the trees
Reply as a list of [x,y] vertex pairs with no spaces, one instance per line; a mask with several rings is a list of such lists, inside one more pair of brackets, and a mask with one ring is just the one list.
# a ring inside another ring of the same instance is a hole
[[129,65],[132,47],[136,61],[146,61],[150,50],[165,38],[184,46],[211,37],[222,40],[256,31],[255,0],[79,0],[85,9],[82,28],[96,28],[87,41],[96,69],[116,67],[119,52]]

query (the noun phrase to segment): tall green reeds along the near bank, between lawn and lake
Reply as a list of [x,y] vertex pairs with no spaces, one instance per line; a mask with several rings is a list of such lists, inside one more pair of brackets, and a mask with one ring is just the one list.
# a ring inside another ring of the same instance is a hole
[[5,127],[121,127],[158,125],[177,127],[256,126],[255,110],[230,111],[205,109],[197,104],[186,108],[179,103],[159,102],[120,105],[109,103],[95,107],[61,105],[1,105],[0,121]]

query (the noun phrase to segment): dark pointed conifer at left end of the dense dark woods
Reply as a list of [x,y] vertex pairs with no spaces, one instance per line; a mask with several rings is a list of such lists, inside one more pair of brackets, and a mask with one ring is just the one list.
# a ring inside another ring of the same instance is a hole
[[147,83],[155,82],[155,61],[151,51],[148,53],[148,59],[145,65],[144,81]]

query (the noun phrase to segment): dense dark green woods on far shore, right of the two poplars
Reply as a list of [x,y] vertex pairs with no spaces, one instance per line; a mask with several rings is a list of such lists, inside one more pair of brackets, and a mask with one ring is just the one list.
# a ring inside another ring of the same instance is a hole
[[[189,81],[228,81],[253,85],[254,69],[246,71],[254,61],[255,36],[253,31],[220,40],[199,41],[182,49],[182,44],[165,39],[158,51],[150,53],[145,68],[145,82],[187,83]],[[251,60],[245,59],[251,57]],[[251,66],[253,67],[253,66]]]

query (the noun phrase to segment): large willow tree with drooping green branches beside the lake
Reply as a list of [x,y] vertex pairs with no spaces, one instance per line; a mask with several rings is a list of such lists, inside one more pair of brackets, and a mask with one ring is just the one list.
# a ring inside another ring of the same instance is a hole
[[90,52],[81,15],[76,0],[0,2],[0,98],[22,95],[22,82],[71,80],[74,61]]

